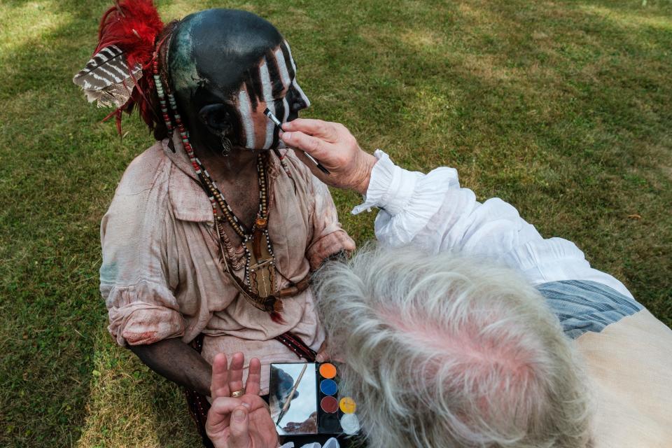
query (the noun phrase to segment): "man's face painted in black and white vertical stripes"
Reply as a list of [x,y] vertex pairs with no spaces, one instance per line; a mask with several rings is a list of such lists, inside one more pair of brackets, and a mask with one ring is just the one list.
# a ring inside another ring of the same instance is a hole
[[310,101],[296,82],[296,64],[287,41],[268,50],[258,66],[248,70],[248,76],[237,95],[236,112],[240,142],[249,149],[278,148],[278,130],[264,115],[268,108],[276,117],[286,121],[297,118],[298,112],[310,106]]

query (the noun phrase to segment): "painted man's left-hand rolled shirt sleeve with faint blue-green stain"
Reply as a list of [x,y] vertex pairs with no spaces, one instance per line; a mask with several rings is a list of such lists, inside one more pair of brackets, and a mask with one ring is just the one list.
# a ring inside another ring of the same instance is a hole
[[184,332],[169,287],[166,246],[171,227],[165,198],[160,185],[129,183],[132,167],[101,223],[100,291],[109,332],[120,345],[152,344]]

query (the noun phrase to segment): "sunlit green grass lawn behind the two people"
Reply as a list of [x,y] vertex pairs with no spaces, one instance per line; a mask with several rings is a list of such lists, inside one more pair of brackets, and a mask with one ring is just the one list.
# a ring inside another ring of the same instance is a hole
[[[111,0],[0,1],[0,446],[195,447],[181,391],[113,345],[99,221],[126,137],[71,83]],[[392,3],[389,6],[387,3]],[[672,2],[159,1],[273,22],[314,106],[409,169],[575,241],[672,325]],[[344,228],[372,237],[373,214]]]

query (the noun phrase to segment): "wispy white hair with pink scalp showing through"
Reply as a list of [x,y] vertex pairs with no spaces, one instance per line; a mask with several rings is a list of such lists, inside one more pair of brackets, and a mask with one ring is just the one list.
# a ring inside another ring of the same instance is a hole
[[589,446],[577,354],[512,270],[369,247],[323,267],[316,293],[370,447]]

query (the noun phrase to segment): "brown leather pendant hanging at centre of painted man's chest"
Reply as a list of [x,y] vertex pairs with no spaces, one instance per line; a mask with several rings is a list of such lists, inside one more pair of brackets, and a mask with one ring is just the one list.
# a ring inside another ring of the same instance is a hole
[[269,251],[266,219],[257,218],[252,237],[245,241],[250,258],[248,260],[251,292],[261,298],[275,292],[275,257]]

